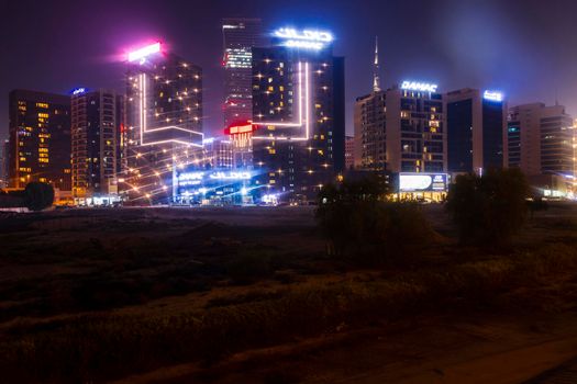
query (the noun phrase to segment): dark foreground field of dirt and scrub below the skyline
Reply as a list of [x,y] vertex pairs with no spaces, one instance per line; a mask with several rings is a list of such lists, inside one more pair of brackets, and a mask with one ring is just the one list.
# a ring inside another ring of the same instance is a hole
[[0,381],[545,383],[570,371],[577,206],[537,213],[499,250],[457,245],[442,207],[423,210],[434,242],[378,269],[328,257],[312,208],[2,214]]

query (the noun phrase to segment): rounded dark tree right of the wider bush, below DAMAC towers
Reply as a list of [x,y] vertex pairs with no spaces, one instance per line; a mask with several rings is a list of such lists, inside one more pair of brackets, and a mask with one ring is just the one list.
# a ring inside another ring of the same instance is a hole
[[446,207],[463,242],[502,246],[524,223],[528,193],[519,169],[489,169],[482,177],[458,176],[450,187]]

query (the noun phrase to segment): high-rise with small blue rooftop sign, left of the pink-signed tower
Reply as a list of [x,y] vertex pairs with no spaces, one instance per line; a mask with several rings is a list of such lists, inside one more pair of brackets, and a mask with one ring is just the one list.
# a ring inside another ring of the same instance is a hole
[[73,197],[78,203],[118,195],[121,103],[113,90],[73,92]]

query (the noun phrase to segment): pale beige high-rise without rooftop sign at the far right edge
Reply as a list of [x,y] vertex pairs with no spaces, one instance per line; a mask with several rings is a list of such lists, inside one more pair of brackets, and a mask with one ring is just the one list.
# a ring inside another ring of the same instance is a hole
[[575,177],[575,128],[563,105],[532,103],[509,110],[508,163],[526,176]]

